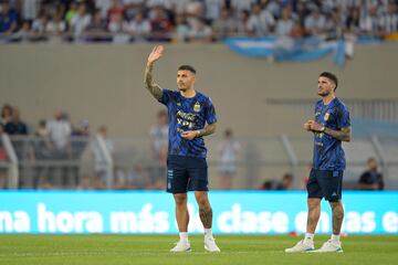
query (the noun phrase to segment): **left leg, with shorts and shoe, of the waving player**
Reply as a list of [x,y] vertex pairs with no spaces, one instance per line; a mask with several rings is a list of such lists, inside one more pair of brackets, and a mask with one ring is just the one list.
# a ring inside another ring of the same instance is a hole
[[184,161],[179,158],[168,158],[167,160],[167,192],[172,193],[176,204],[176,220],[179,231],[179,242],[171,252],[190,251],[188,240],[188,197],[187,197],[188,174],[184,168]]

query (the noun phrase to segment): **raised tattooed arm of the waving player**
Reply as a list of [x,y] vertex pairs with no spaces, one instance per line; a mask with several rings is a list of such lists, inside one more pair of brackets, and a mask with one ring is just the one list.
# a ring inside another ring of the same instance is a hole
[[155,46],[151,53],[148,56],[148,62],[145,67],[145,74],[144,74],[144,85],[149,91],[149,93],[156,98],[160,99],[163,96],[163,89],[161,87],[154,82],[153,77],[153,71],[154,65],[157,60],[159,60],[163,55],[164,46]]

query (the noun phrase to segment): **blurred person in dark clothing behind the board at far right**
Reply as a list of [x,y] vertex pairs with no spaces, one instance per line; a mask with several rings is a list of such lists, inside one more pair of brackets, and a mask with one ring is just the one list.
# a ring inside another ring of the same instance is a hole
[[384,190],[383,174],[378,172],[378,163],[375,158],[367,160],[368,169],[360,176],[359,190]]

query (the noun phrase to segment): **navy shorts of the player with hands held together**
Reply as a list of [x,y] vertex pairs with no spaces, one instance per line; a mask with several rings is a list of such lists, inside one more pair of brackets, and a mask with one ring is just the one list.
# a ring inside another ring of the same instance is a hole
[[325,198],[331,202],[342,200],[343,171],[312,169],[306,186],[308,198]]

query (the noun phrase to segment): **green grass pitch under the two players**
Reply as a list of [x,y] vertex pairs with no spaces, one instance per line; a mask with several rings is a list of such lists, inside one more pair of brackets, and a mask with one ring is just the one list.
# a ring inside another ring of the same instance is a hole
[[[221,253],[207,253],[191,235],[190,253],[170,253],[177,235],[0,235],[0,264],[398,264],[398,235],[349,235],[344,253],[286,254],[300,237],[216,235]],[[328,236],[315,236],[315,247]]]

